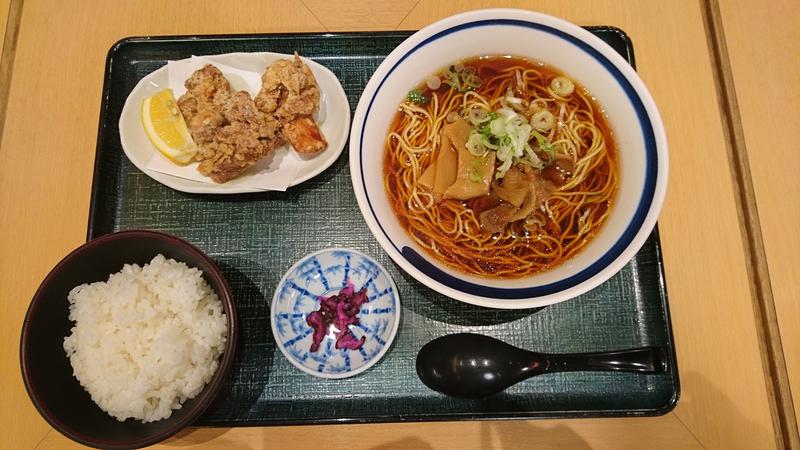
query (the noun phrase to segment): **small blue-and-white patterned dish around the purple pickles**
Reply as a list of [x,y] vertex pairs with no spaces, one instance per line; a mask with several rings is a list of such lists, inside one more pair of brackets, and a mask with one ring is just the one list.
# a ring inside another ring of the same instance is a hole
[[[338,294],[348,279],[356,291],[367,288],[359,323],[350,326],[356,339],[366,336],[364,345],[337,350],[331,332],[311,352],[313,329],[306,317],[319,309],[319,296]],[[343,248],[321,250],[283,276],[272,298],[271,320],[278,348],[295,367],[322,378],[346,378],[367,370],[392,345],[400,323],[400,296],[386,269],[369,256]]]

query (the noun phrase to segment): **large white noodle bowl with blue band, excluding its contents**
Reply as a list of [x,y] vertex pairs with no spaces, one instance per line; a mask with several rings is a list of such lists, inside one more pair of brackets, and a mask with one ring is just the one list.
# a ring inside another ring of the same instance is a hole
[[[497,278],[455,269],[418,245],[387,196],[387,133],[409,91],[435,71],[480,56],[514,56],[577,81],[603,109],[616,142],[618,186],[595,236],[566,261],[531,275]],[[511,9],[448,17],[410,36],[378,67],[355,111],[350,169],[359,208],[389,256],[415,279],[466,303],[503,309],[574,298],[624,267],[656,224],[667,186],[667,141],[658,109],[633,68],[598,37],[540,13]]]

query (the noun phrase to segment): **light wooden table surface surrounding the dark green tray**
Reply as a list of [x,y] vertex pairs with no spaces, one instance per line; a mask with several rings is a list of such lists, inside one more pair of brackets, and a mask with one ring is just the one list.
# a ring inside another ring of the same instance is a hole
[[[182,448],[720,448],[798,445],[800,2],[0,1],[0,448],[77,446],[25,393],[19,335],[86,236],[106,52],[133,35],[417,29],[512,6],[632,38],[663,115],[659,220],[681,398],[637,419],[188,429]],[[791,387],[794,387],[792,397]]]

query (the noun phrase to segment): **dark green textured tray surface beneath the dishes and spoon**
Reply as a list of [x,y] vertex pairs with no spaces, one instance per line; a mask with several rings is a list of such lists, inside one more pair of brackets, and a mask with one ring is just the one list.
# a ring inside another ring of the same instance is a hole
[[[619,30],[590,28],[633,62]],[[234,367],[199,425],[452,420],[660,414],[678,395],[659,240],[650,239],[619,274],[579,298],[531,310],[491,310],[457,302],[415,281],[381,250],[358,210],[348,152],[287,192],[196,195],[150,179],[125,157],[120,111],[136,83],[170,59],[192,54],[272,51],[310,57],[331,69],[355,110],[364,85],[406,32],[338,35],[141,38],[109,52],[98,137],[89,237],[143,228],[181,236],[209,254],[233,289],[241,323]],[[314,378],[276,348],[270,302],[284,272],[316,250],[341,246],[380,261],[397,283],[400,330],[373,368],[345,380]],[[471,331],[543,352],[663,346],[659,375],[561,373],[520,383],[482,400],[429,390],[417,378],[417,351],[445,334]]]

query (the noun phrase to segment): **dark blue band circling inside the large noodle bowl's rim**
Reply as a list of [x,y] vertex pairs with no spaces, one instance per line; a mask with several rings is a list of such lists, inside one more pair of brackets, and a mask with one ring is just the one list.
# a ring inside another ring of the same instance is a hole
[[447,286],[451,289],[455,289],[457,291],[461,291],[466,294],[471,294],[486,298],[504,299],[504,300],[522,300],[532,297],[542,297],[569,288],[573,288],[599,274],[605,267],[609,266],[615,259],[617,259],[625,251],[625,249],[631,244],[631,242],[639,232],[640,228],[644,224],[647,215],[650,211],[650,208],[652,206],[656,190],[657,178],[658,178],[658,154],[656,150],[657,145],[656,145],[655,131],[653,129],[653,124],[650,121],[650,116],[648,115],[647,110],[645,108],[644,102],[640,98],[636,89],[627,79],[627,77],[622,73],[622,71],[619,68],[617,68],[614,65],[613,62],[611,62],[605,55],[603,55],[600,51],[595,49],[590,44],[587,44],[580,38],[577,38],[565,31],[550,27],[548,25],[525,21],[525,20],[518,20],[518,19],[485,19],[485,20],[466,22],[439,31],[434,35],[425,38],[422,42],[415,45],[411,50],[400,56],[397,62],[394,63],[394,65],[392,65],[392,67],[389,68],[389,70],[386,72],[383,79],[381,79],[380,83],[378,83],[378,87],[375,89],[375,92],[372,94],[372,98],[369,99],[369,104],[364,114],[364,119],[362,123],[367,122],[370,110],[372,109],[372,105],[375,102],[375,99],[377,98],[378,93],[380,92],[386,80],[406,58],[411,56],[413,53],[415,53],[422,47],[425,47],[431,42],[434,42],[447,35],[457,33],[459,31],[470,28],[497,26],[497,25],[532,28],[539,31],[543,31],[545,33],[552,34],[556,37],[559,37],[569,42],[570,44],[584,51],[589,56],[593,57],[597,62],[599,62],[611,74],[611,76],[614,77],[614,79],[617,81],[617,83],[619,83],[620,87],[627,95],[628,100],[630,101],[633,109],[636,112],[636,116],[639,119],[639,126],[643,134],[642,137],[645,144],[645,156],[646,156],[645,180],[641,197],[639,198],[639,205],[636,208],[636,211],[632,217],[631,222],[628,224],[628,226],[622,233],[619,240],[617,240],[617,242],[615,242],[614,245],[611,246],[611,248],[603,256],[601,256],[597,261],[592,263],[586,269],[568,278],[553,283],[541,286],[529,287],[529,288],[497,288],[497,287],[490,287],[472,283],[446,273],[445,271],[431,264],[428,260],[425,259],[424,256],[420,255],[416,250],[408,246],[403,246],[401,249],[394,241],[392,241],[389,234],[383,228],[383,225],[381,225],[381,222],[378,219],[378,215],[375,213],[375,209],[372,206],[372,202],[370,201],[369,193],[366,188],[366,180],[364,178],[364,167],[363,167],[364,158],[362,156],[362,153],[364,151],[364,133],[365,133],[365,127],[363,126],[361,128],[361,134],[358,137],[359,164],[360,164],[359,171],[361,176],[362,189],[364,191],[364,197],[367,200],[367,204],[369,205],[370,212],[372,213],[375,222],[381,229],[381,232],[383,232],[384,237],[386,237],[389,243],[395,248],[395,250],[398,251],[398,253],[400,253],[403,256],[403,258],[405,258],[406,261],[408,261],[408,263],[410,263],[417,270],[419,270],[432,280],[441,283],[442,285]]

